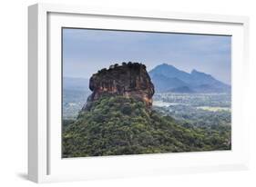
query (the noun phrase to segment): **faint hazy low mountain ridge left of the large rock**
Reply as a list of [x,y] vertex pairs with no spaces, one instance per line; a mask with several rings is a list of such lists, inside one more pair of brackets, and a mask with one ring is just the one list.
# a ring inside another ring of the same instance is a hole
[[89,80],[87,78],[63,77],[63,88],[73,91],[89,91]]

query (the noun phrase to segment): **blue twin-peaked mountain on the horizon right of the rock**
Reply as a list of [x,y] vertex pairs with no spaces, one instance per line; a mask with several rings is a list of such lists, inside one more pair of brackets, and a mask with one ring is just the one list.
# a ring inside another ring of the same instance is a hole
[[160,64],[149,72],[157,92],[175,93],[227,93],[230,85],[210,74],[192,70],[186,73],[169,64]]

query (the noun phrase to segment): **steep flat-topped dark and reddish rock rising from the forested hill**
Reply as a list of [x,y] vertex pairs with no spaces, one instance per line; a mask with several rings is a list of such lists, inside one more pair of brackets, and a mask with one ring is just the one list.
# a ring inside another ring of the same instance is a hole
[[87,98],[84,111],[89,110],[92,103],[103,95],[134,97],[151,107],[155,93],[146,66],[138,63],[115,64],[98,71],[90,78],[89,88],[93,93]]

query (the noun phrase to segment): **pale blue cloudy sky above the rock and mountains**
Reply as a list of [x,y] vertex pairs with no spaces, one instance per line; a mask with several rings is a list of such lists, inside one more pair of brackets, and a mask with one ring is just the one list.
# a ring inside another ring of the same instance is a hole
[[110,64],[171,64],[230,84],[231,36],[63,29],[63,75],[89,78]]

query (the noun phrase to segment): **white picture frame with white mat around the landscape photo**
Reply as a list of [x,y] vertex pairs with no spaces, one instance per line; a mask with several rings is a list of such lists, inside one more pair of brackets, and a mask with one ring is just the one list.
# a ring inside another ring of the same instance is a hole
[[[143,27],[140,25],[142,22]],[[36,4],[28,7],[28,24],[29,180],[62,182],[248,169],[249,123],[242,114],[243,99],[246,98],[247,93],[246,85],[241,82],[241,80],[248,79],[248,17]],[[158,25],[158,29],[154,25]],[[59,29],[63,26],[231,34],[234,38],[232,40],[232,145],[234,145],[232,150],[230,152],[62,159],[59,154],[61,149],[60,119],[56,117],[60,113],[60,105],[53,101],[58,100],[59,92],[61,92],[60,76],[58,76],[61,69],[58,62],[61,59]]]

